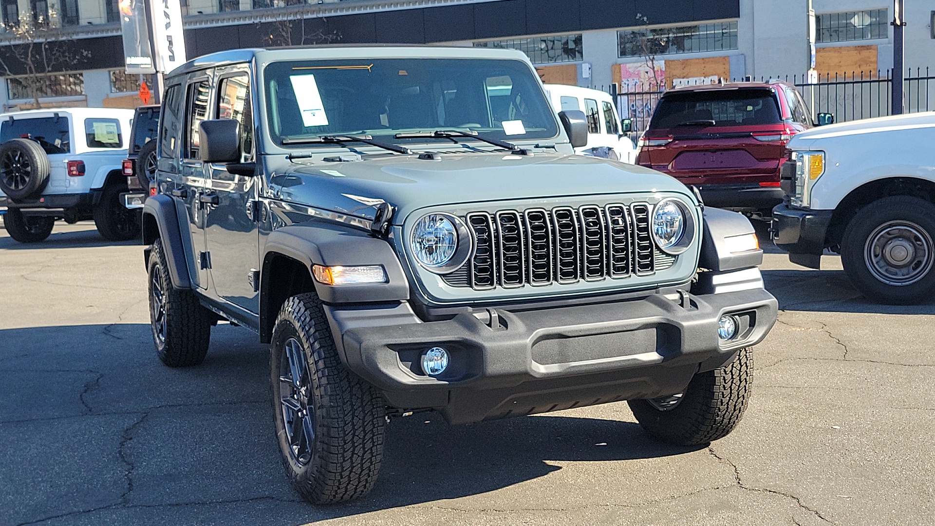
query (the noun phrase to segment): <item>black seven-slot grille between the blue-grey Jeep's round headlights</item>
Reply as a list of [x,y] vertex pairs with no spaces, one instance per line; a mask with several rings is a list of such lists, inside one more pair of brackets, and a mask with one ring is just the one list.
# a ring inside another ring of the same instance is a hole
[[645,203],[470,212],[474,254],[444,278],[483,290],[651,274],[675,258],[655,248],[649,214]]

